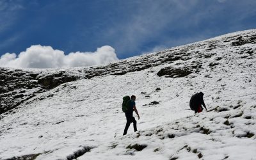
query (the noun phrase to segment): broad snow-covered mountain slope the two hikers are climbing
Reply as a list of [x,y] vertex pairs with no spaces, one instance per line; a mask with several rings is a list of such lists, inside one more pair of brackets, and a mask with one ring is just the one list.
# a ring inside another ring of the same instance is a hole
[[[255,54],[251,29],[106,66],[14,70],[79,78],[4,103],[0,159],[256,159]],[[196,92],[207,111],[194,114]],[[141,117],[126,136],[124,95]]]

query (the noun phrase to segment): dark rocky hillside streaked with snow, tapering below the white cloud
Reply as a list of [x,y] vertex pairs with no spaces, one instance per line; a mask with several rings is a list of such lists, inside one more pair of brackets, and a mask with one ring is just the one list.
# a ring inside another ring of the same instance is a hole
[[38,93],[77,79],[79,77],[65,72],[42,74],[42,72],[0,68],[0,114],[16,108]]

